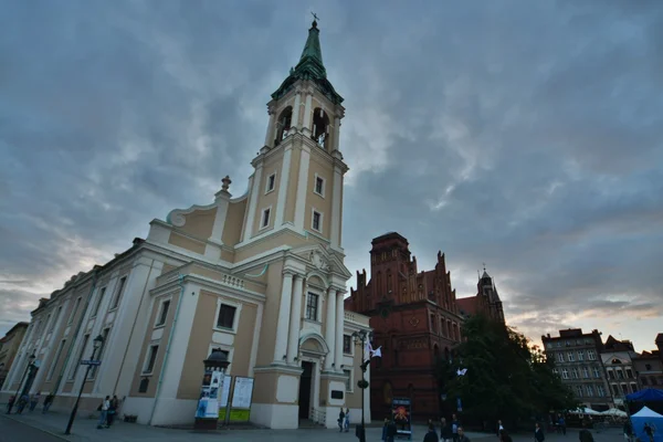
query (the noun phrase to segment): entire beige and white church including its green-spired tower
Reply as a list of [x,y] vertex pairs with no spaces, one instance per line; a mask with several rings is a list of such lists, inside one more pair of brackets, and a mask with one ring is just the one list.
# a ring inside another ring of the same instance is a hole
[[[345,337],[370,328],[343,302],[351,274],[341,248],[341,102],[314,22],[267,104],[246,192],[233,198],[225,177],[212,203],[152,220],[145,240],[40,303],[3,393],[53,392],[53,408],[70,409],[85,376],[80,361],[94,356],[102,365],[84,385],[82,409],[117,394],[119,413],[138,422],[190,423],[202,361],[220,349],[230,376],[254,379],[253,422],[335,427],[339,407],[359,420],[361,351]],[[21,385],[33,351],[39,368]],[[368,419],[368,391],[365,400]]]

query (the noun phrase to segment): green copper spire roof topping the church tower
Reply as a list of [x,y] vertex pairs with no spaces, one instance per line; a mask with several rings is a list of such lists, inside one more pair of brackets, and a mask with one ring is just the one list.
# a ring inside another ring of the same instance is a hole
[[343,103],[343,97],[334,90],[332,83],[327,80],[327,70],[323,63],[323,50],[320,49],[320,31],[317,28],[317,21],[308,30],[308,39],[302,51],[299,63],[290,75],[272,94],[272,98],[278,99],[287,94],[297,80],[309,80],[335,104]]

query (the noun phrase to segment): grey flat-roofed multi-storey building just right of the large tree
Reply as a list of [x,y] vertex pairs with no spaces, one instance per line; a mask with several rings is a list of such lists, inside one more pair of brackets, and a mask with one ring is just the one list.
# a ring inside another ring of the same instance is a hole
[[602,365],[603,344],[598,330],[583,334],[580,328],[559,330],[559,336],[541,336],[546,358],[555,372],[585,407],[604,411],[612,407],[612,394]]

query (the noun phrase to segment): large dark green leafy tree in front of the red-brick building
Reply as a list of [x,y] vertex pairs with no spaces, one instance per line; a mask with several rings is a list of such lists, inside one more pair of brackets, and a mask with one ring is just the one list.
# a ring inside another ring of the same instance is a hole
[[[469,318],[462,333],[455,356],[440,361],[436,373],[451,407],[461,398],[465,419],[502,419],[514,428],[520,420],[577,407],[551,361],[520,333],[483,316]],[[457,376],[463,368],[466,373]]]

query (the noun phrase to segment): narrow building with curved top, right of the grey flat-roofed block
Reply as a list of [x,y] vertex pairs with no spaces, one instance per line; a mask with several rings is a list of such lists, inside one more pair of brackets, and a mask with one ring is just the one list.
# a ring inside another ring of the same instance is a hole
[[623,407],[627,394],[639,390],[633,359],[639,355],[630,340],[608,336],[601,351],[601,360],[617,407]]

